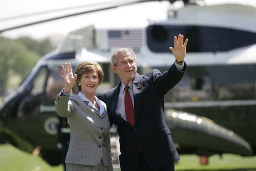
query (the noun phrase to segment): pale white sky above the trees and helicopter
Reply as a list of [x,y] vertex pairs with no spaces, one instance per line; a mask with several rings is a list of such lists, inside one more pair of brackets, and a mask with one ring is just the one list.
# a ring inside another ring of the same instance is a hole
[[[105,6],[110,4],[109,1],[120,2],[124,0],[0,0],[0,30],[31,21],[46,19],[48,17]],[[202,1],[207,5],[217,3],[242,3],[256,6],[256,0],[201,0],[201,2]],[[181,5],[181,3],[177,2],[175,5]],[[78,6],[81,7],[77,8]],[[73,8],[70,10],[58,10],[71,7]],[[90,24],[98,24],[107,27],[114,25],[143,25],[147,23],[147,19],[167,19],[167,10],[169,7],[170,3],[168,1],[144,2],[16,28],[10,31],[4,31],[0,35],[8,38],[31,36],[35,39],[42,39],[51,36],[63,37],[72,30],[83,28]],[[48,13],[38,14],[44,11],[48,11]],[[26,14],[33,14],[33,16],[17,18],[17,16]],[[15,17],[15,19],[13,17]]]

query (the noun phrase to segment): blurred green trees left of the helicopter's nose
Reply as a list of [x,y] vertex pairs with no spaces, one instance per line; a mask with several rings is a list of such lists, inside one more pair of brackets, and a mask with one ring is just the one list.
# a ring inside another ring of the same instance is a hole
[[36,62],[54,49],[49,38],[31,37],[9,39],[0,36],[0,96],[16,88]]

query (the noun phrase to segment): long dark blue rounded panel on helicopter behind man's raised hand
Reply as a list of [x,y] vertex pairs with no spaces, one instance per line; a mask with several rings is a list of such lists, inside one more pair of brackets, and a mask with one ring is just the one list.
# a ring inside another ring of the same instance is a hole
[[[148,47],[153,52],[171,53],[170,42],[178,34],[188,38],[187,52],[227,51],[256,43],[256,33],[249,31],[195,25],[150,25],[147,27]],[[245,37],[246,41],[241,41]]]

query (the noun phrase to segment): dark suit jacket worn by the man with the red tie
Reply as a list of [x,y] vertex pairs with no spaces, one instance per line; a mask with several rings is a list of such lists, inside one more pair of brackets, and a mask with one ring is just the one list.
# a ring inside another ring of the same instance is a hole
[[185,69],[186,64],[182,71],[177,71],[173,64],[163,74],[157,69],[142,76],[136,74],[133,80],[135,127],[115,113],[121,82],[103,93],[110,123],[117,126],[120,137],[122,171],[138,171],[138,146],[146,163],[154,170],[179,160],[165,122],[164,95],[181,80]]

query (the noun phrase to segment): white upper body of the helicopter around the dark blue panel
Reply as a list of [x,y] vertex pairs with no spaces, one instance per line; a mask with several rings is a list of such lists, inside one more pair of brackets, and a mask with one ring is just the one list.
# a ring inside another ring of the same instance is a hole
[[[144,45],[136,53],[138,66],[170,66],[174,62],[174,57],[171,53],[155,53],[147,47],[146,27],[149,24],[201,25],[256,32],[255,18],[256,7],[254,6],[243,4],[199,6],[189,4],[183,8],[170,9],[169,19],[164,21],[148,20],[147,24],[144,23],[137,27],[134,25],[130,27],[127,25],[104,27],[94,24],[72,31],[58,50],[59,53],[76,50],[78,52],[78,60],[85,60],[88,56],[88,60],[110,62],[111,52],[114,49],[104,47],[107,43],[107,31],[137,28],[144,31]],[[94,30],[96,31],[93,32]],[[96,34],[96,45],[93,45],[93,34]],[[190,52],[186,54],[185,60],[189,65],[256,63],[255,52],[256,45],[249,45],[224,52]]]

